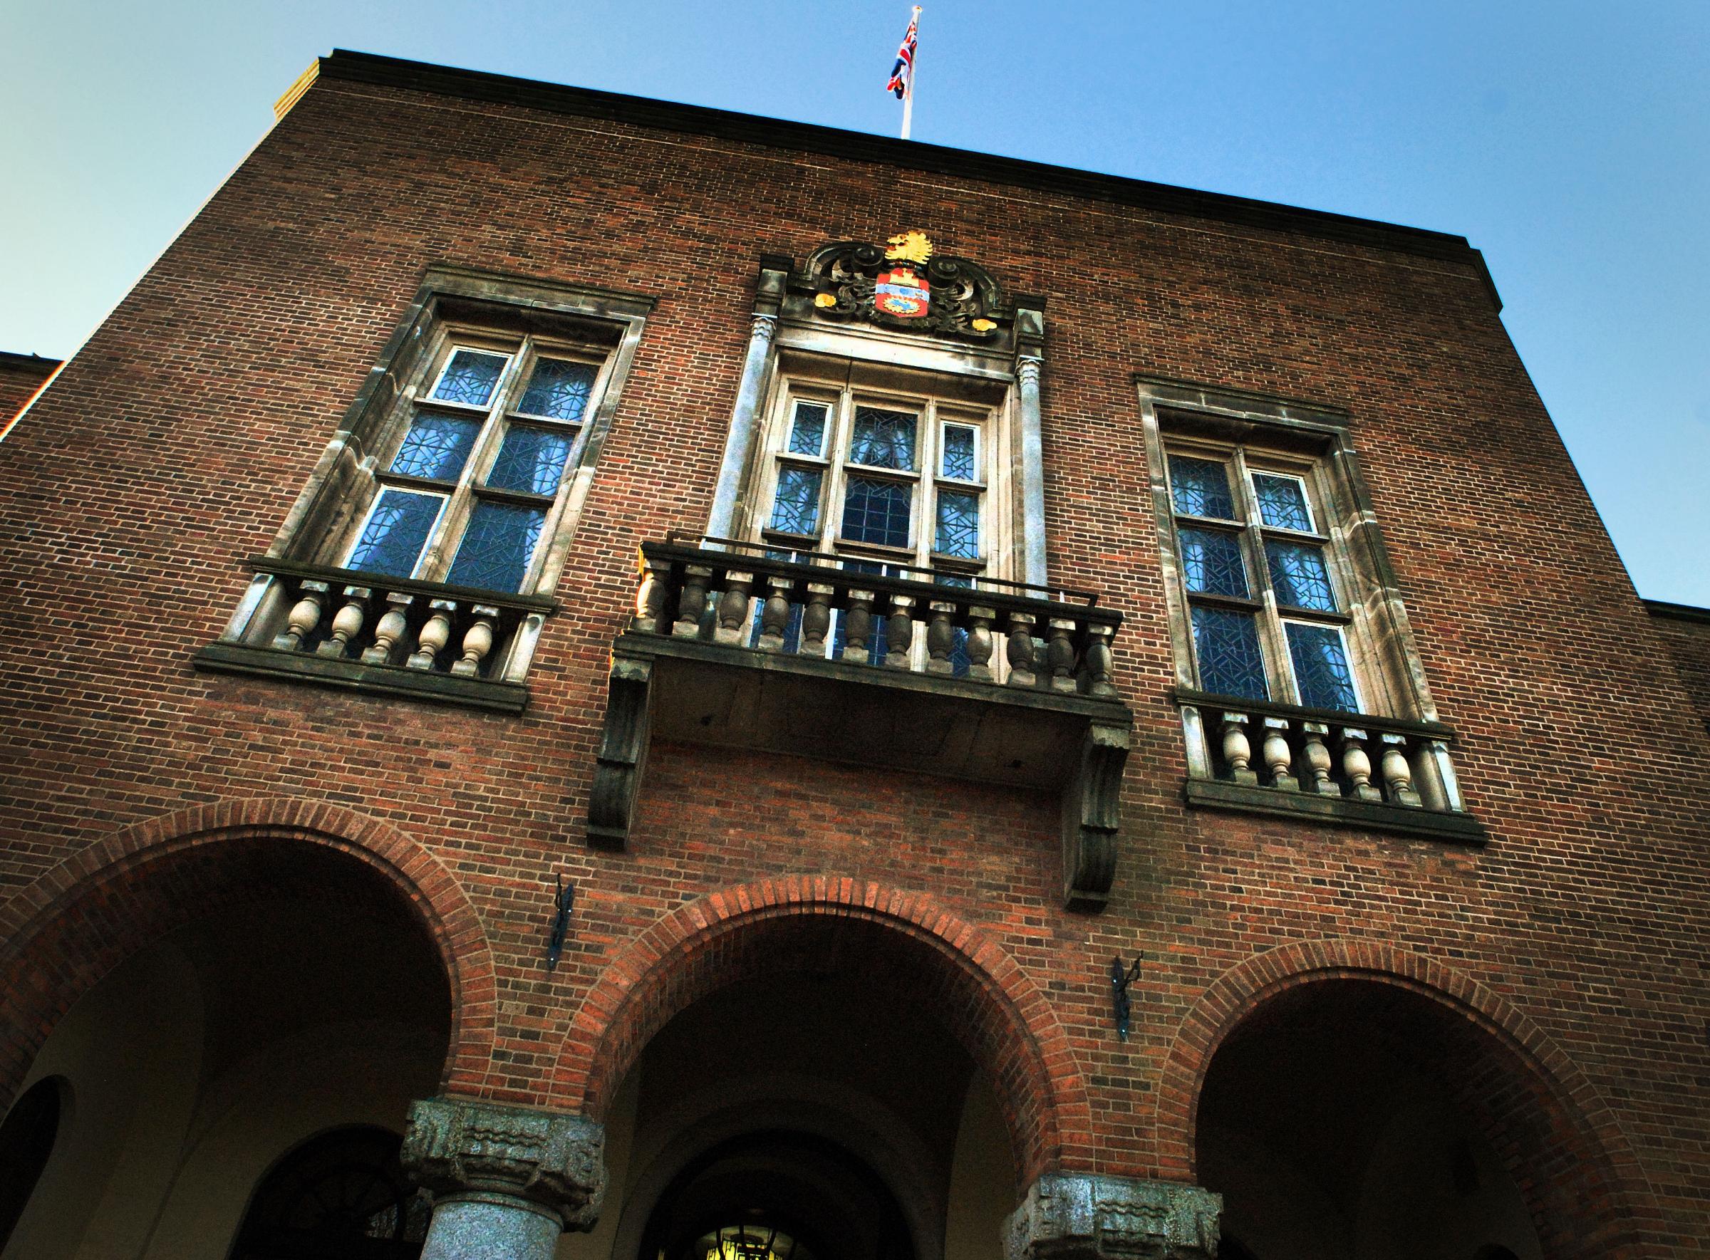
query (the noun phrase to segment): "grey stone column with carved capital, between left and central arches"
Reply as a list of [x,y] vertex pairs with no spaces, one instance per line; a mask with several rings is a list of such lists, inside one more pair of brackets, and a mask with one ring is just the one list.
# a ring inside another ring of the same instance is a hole
[[414,1103],[402,1161],[434,1198],[422,1260],[552,1260],[605,1195],[604,1125],[472,1098]]

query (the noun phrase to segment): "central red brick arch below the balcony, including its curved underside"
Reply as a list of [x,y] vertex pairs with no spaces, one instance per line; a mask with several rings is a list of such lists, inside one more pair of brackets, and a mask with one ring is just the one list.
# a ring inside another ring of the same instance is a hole
[[[761,880],[691,901],[607,963],[571,1022],[554,1101],[604,1116],[624,1072],[677,1012],[735,980],[800,966],[804,945],[850,951],[946,1022],[1004,1106],[1023,1183],[1091,1168],[1074,1053],[1045,995],[990,937],[922,892],[858,879]],[[821,954],[811,954],[821,957]]]

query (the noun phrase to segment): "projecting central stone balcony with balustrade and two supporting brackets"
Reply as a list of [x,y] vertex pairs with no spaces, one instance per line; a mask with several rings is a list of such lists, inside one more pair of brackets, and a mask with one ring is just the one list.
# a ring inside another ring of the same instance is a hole
[[658,735],[1050,792],[1064,899],[1103,906],[1132,715],[1112,679],[1122,614],[1094,593],[670,535],[643,544],[634,607],[588,843],[628,843]]

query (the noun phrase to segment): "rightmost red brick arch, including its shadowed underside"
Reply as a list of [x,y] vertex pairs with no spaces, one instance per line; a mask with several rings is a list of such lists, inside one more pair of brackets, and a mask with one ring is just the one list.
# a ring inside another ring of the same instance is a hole
[[[1652,1255],[1660,1222],[1626,1133],[1585,1074],[1513,1004],[1435,959],[1371,940],[1281,945],[1223,973],[1176,1033],[1158,1091],[1161,1175],[1195,1178],[1206,1074],[1267,1009],[1356,997],[1476,1116],[1527,1200],[1549,1257]],[[1383,1016],[1380,1016],[1383,1012]],[[1392,1045],[1392,1048],[1397,1048]]]

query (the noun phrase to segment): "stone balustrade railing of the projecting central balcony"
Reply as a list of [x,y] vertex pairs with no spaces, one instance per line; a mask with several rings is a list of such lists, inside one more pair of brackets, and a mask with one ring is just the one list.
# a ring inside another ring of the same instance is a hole
[[[1122,615],[1091,592],[901,569],[881,576],[840,557],[766,554],[722,539],[641,547],[631,633],[1113,699]],[[968,580],[963,580],[968,581]],[[758,612],[756,612],[758,609]]]

